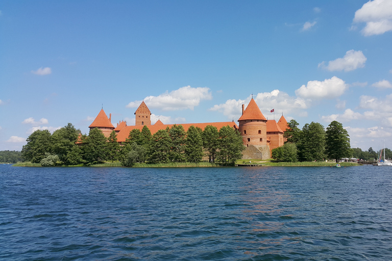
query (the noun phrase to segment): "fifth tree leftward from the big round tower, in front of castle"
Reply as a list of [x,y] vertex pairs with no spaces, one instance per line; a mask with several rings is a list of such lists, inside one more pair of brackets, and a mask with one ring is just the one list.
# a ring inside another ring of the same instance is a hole
[[167,129],[160,129],[153,135],[151,142],[150,163],[168,163],[171,138]]

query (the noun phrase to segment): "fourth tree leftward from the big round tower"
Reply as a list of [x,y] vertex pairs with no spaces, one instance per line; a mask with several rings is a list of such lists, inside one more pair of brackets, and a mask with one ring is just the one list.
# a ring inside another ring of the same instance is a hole
[[171,139],[171,148],[169,151],[170,162],[184,162],[185,161],[185,137],[186,133],[182,125],[174,124],[168,129],[168,134]]

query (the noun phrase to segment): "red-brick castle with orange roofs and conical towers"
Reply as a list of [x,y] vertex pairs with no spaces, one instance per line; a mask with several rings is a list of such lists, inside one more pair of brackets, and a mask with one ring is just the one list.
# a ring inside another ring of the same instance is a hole
[[[117,126],[114,127],[111,123],[112,114],[109,114],[109,118],[103,109],[96,116],[94,121],[88,126],[90,129],[99,128],[105,137],[109,137],[110,133],[114,130],[117,134],[117,142],[125,142],[132,129],[141,129],[143,126],[147,126],[151,134],[156,133],[159,129],[165,129],[171,127],[174,124],[163,124],[161,120],[158,120],[153,125],[151,124],[151,112],[145,105],[144,101],[141,102],[140,106],[135,112],[135,125],[127,125],[126,121],[119,121]],[[283,146],[284,139],[283,134],[287,128],[287,121],[282,115],[278,122],[275,120],[267,120],[261,113],[256,101],[252,98],[246,109],[242,105],[242,115],[238,119],[238,125],[234,121],[226,122],[207,122],[207,123],[184,123],[178,124],[184,127],[185,131],[188,131],[190,126],[200,127],[202,130],[207,125],[215,126],[218,130],[229,125],[235,129],[238,129],[242,136],[243,144],[246,149],[242,152],[242,159],[269,159],[271,158],[271,152],[274,148]]]

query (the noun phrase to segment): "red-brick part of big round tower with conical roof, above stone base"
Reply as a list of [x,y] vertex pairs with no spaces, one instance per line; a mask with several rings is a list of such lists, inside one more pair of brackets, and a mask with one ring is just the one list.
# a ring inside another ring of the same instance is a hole
[[261,113],[256,101],[252,98],[246,110],[238,119],[238,128],[242,136],[243,144],[247,147],[250,145],[267,145],[267,119]]

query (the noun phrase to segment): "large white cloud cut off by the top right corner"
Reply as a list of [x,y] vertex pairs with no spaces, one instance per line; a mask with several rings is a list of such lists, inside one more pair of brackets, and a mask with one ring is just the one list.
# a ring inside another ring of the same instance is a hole
[[392,1],[374,0],[355,12],[354,22],[365,22],[364,36],[380,35],[392,31]]

